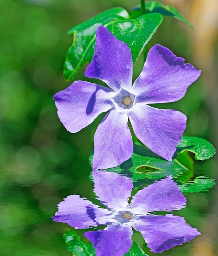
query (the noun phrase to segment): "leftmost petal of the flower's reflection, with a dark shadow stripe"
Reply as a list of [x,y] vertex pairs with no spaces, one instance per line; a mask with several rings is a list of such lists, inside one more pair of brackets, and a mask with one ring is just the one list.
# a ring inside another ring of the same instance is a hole
[[108,209],[101,209],[79,195],[69,195],[64,200],[58,204],[58,212],[52,217],[54,221],[67,223],[75,229],[87,229],[108,223]]

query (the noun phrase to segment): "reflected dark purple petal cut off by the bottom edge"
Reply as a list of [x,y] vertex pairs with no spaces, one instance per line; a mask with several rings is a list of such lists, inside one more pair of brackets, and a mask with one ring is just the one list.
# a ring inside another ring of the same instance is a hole
[[85,232],[97,256],[123,256],[132,246],[132,234],[129,225],[109,225],[104,230]]

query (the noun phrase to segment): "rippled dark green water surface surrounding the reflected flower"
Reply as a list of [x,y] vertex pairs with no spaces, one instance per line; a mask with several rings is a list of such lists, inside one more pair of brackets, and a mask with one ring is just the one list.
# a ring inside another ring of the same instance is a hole
[[[33,173],[8,173],[2,177],[1,190],[1,255],[9,256],[68,256],[62,235],[69,225],[53,222],[51,216],[57,211],[57,204],[71,194],[78,194],[95,203],[93,183],[89,181],[89,171],[80,170],[70,174],[64,171],[49,172],[34,180]],[[214,177],[212,171],[195,171],[195,176]],[[13,180],[9,177],[13,176]],[[37,177],[37,175],[35,175]],[[147,182],[149,183],[149,181]],[[162,256],[214,256],[217,239],[217,188],[200,193],[187,193],[187,207],[175,212],[184,216],[192,227],[201,233],[189,243],[175,246]],[[149,252],[139,232],[134,238],[145,252]]]

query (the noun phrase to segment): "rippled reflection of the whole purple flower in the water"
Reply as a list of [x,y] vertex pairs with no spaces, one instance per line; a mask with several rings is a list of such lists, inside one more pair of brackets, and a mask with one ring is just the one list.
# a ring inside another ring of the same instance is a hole
[[123,256],[129,252],[132,227],[142,234],[148,247],[156,253],[189,242],[200,235],[183,217],[150,214],[185,207],[185,196],[171,177],[139,190],[129,204],[128,198],[133,188],[129,177],[105,171],[93,171],[92,175],[94,192],[107,209],[100,208],[79,195],[69,195],[58,204],[58,212],[52,218],[76,229],[108,225],[103,230],[85,232],[85,236],[93,243],[97,256]]

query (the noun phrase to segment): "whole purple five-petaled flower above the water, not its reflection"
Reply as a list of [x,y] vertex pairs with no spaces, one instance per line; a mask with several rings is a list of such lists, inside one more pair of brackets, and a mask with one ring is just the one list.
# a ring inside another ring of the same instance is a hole
[[186,128],[187,117],[181,112],[147,104],[178,101],[200,71],[161,45],[150,49],[133,85],[132,71],[129,47],[99,26],[94,56],[85,76],[100,79],[109,88],[75,81],[54,95],[60,121],[69,132],[80,131],[100,113],[110,110],[94,136],[95,170],[118,166],[133,154],[128,119],[138,139],[169,161]]

